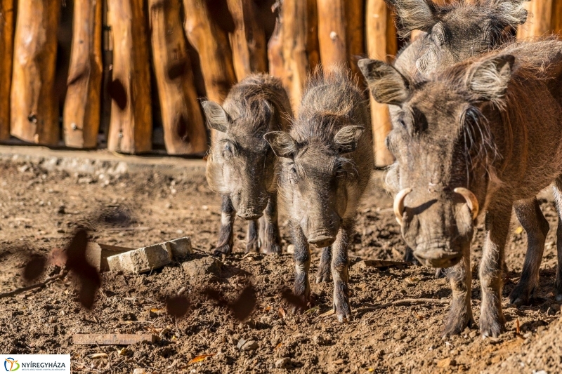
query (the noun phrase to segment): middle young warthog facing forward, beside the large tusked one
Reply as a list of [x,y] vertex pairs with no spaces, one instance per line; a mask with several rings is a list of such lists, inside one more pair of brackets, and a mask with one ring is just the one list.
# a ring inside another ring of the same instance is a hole
[[336,69],[308,84],[290,133],[266,134],[282,158],[278,190],[292,229],[294,291],[308,301],[308,245],[325,248],[317,281],[327,280],[331,261],[339,321],[351,317],[347,248],[355,211],[373,168],[370,126],[369,107],[361,91],[344,69]]

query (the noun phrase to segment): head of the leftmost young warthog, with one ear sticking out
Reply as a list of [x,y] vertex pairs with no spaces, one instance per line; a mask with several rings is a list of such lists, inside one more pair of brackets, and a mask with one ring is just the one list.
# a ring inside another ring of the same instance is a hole
[[[243,105],[242,105],[243,104]],[[207,181],[214,192],[228,195],[237,215],[256,220],[275,192],[275,154],[263,135],[272,128],[272,105],[259,97],[247,102],[203,102],[207,124],[217,131],[209,158]]]

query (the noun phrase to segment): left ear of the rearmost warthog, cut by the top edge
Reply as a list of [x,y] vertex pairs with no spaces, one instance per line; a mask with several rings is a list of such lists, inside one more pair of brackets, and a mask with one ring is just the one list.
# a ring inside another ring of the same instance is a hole
[[432,0],[385,0],[397,15],[398,34],[405,37],[412,30],[429,32],[439,22],[439,7]]

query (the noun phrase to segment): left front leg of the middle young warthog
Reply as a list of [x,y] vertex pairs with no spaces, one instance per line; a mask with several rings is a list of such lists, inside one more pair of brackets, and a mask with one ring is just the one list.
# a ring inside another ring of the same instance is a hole
[[311,268],[311,251],[308,241],[298,223],[292,225],[294,244],[294,294],[305,302],[311,298],[311,285],[308,282],[308,270]]

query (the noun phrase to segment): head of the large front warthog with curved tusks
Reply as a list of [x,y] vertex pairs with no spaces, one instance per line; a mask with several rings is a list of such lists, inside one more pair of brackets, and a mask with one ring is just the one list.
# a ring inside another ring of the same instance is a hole
[[496,156],[481,109],[501,102],[513,64],[499,55],[414,83],[384,62],[359,61],[375,100],[394,112],[387,182],[399,191],[394,211],[405,241],[424,265],[450,267],[469,250]]

